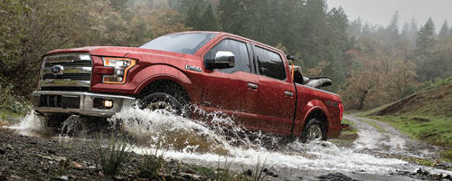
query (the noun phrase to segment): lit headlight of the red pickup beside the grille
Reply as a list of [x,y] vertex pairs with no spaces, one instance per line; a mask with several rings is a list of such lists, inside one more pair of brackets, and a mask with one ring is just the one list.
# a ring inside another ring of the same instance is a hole
[[103,75],[103,83],[124,83],[126,82],[127,71],[135,66],[135,60],[126,58],[102,58],[105,67],[113,67],[111,75]]

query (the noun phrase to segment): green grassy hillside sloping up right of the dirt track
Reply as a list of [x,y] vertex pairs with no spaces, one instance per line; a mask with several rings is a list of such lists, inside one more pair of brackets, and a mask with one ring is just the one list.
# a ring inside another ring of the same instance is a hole
[[443,155],[452,158],[452,78],[362,116],[388,122],[412,138],[446,147]]

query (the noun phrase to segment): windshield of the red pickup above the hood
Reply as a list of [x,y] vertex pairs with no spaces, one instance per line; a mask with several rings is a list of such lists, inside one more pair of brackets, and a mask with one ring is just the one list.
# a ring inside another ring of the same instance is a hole
[[140,48],[166,52],[182,52],[194,54],[205,43],[212,40],[216,33],[173,33],[155,38]]

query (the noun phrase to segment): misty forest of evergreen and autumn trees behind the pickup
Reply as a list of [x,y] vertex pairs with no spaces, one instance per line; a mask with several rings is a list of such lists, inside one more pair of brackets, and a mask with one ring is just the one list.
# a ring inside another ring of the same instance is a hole
[[[330,76],[348,110],[369,110],[452,76],[452,28],[431,19],[387,25],[349,19],[323,0],[2,0],[0,109],[21,111],[42,54],[90,45],[139,46],[165,33],[221,31],[301,59]],[[402,24],[402,25],[400,25]],[[439,27],[439,26],[438,26]],[[19,103],[18,103],[19,102]]]

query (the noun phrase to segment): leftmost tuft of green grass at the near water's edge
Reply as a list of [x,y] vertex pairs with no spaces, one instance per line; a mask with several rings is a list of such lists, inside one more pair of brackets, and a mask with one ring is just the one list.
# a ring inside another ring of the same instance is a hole
[[102,144],[99,143],[99,164],[103,173],[107,176],[123,173],[130,162],[127,153],[129,150],[127,138],[116,138],[114,134],[112,134],[107,148],[102,148]]

